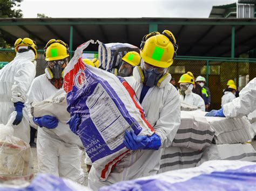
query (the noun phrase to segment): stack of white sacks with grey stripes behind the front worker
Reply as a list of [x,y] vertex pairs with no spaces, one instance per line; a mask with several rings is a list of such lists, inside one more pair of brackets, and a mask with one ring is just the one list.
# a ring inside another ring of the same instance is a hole
[[165,148],[159,173],[199,166],[208,160],[256,161],[250,122],[243,118],[205,117],[206,112],[181,103],[181,123],[172,147]]

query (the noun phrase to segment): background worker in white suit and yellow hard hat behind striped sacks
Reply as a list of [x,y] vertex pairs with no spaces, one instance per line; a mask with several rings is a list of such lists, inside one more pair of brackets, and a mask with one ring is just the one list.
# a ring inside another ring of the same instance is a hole
[[196,106],[201,111],[205,111],[204,99],[200,95],[192,92],[194,78],[190,74],[185,73],[180,77],[178,83],[180,83],[180,101]]

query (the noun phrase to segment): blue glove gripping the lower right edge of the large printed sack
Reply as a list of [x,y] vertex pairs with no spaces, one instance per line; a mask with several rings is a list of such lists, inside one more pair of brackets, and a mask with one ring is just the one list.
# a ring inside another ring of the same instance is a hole
[[157,134],[153,134],[150,137],[145,135],[137,136],[133,130],[125,131],[124,134],[124,145],[130,150],[139,149],[153,149],[158,150],[161,146],[161,140]]

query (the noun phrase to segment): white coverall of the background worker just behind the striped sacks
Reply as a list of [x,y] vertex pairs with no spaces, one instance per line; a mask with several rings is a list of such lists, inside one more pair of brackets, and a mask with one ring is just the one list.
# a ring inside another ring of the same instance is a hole
[[184,102],[189,105],[193,105],[199,108],[201,111],[205,111],[205,102],[204,99],[200,97],[200,95],[191,92],[187,94],[185,97],[184,95],[180,95],[180,101]]

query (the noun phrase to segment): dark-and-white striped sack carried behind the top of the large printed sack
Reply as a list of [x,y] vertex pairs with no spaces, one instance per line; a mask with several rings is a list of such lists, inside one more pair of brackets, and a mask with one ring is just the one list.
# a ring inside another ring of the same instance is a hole
[[97,40],[97,43],[99,44],[99,67],[113,74],[122,64],[122,58],[127,52],[135,51],[140,53],[137,46],[128,43],[104,44],[99,40]]

